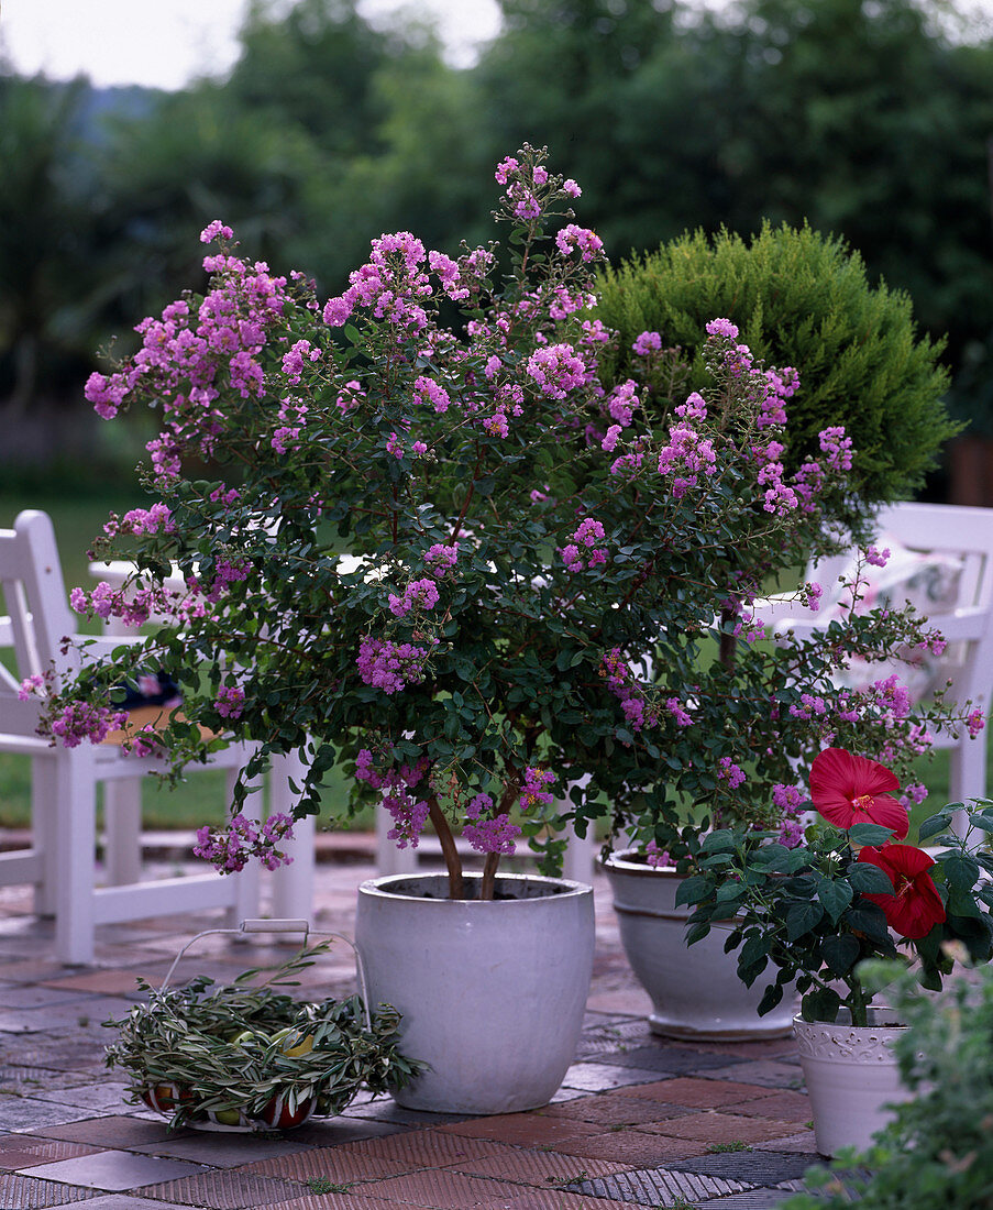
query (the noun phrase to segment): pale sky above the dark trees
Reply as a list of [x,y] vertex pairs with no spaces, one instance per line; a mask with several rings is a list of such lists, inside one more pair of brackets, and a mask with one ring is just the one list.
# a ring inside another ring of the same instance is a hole
[[[224,73],[237,54],[247,0],[0,0],[0,57],[23,75],[62,80],[85,73],[94,85],[181,88]],[[359,0],[370,19],[399,7],[435,15],[454,63],[496,34],[496,0]]]

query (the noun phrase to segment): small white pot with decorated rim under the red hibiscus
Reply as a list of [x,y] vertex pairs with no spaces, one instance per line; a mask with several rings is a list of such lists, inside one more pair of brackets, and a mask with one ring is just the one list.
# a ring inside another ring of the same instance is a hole
[[884,1106],[911,1096],[900,1083],[893,1053],[893,1043],[906,1027],[876,1024],[887,1020],[891,1018],[883,1009],[870,1009],[870,1025],[793,1019],[821,1156],[837,1156],[842,1147],[868,1147],[873,1134],[893,1117]]

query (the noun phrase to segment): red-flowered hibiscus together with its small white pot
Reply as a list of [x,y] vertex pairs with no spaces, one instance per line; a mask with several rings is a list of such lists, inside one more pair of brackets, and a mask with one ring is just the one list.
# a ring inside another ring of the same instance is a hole
[[868,1143],[885,1120],[883,1106],[901,1093],[893,1043],[905,1027],[878,1007],[867,985],[868,958],[914,963],[919,983],[940,991],[953,953],[972,962],[993,956],[993,858],[969,847],[969,831],[993,831],[993,803],[970,813],[964,836],[948,832],[962,803],[926,820],[920,839],[948,845],[935,857],[901,843],[906,808],[900,783],[884,765],[827,748],[813,762],[810,797],[826,820],[804,842],[786,847],[766,832],[722,829],[700,848],[698,872],[680,891],[694,908],[688,941],[716,922],[737,950],[738,974],[751,986],[767,967],[760,1012],[796,985],[793,1020],[814,1113],[818,1151]]

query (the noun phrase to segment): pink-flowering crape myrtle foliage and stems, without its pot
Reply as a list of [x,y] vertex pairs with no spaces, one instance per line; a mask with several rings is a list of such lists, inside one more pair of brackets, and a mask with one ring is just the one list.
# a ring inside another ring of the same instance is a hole
[[[685,855],[709,820],[781,822],[825,743],[899,768],[948,721],[912,719],[889,681],[832,685],[851,656],[939,641],[907,613],[853,612],[826,645],[750,641],[763,580],[827,549],[825,520],[858,489],[830,425],[785,477],[796,371],[755,365],[715,317],[706,397],[681,392],[654,333],[637,381],[601,381],[614,338],[578,185],[527,146],[496,179],[506,260],[382,236],[323,301],[241,257],[221,223],[203,232],[219,244],[206,293],[145,319],[140,350],[87,386],[108,419],[160,413],[158,501],[108,525],[102,548],[127,540],[133,582],[74,604],[166,622],[48,711],[62,741],[96,736],[122,674],[167,668],[184,718],[158,742],[177,774],[230,738],[259,743],[249,776],[300,751],[302,816],[343,765],[398,845],[431,822],[456,898],[460,829],[485,854],[484,895],[521,836],[554,866],[570,820],[607,816]],[[289,824],[236,816],[202,849],[223,869],[273,864]]]

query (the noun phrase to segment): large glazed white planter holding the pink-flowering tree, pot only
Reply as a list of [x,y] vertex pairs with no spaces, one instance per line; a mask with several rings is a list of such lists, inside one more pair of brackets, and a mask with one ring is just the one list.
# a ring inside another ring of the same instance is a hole
[[[478,893],[478,876],[466,883]],[[576,1056],[593,974],[593,889],[508,874],[496,893],[448,899],[443,874],[359,887],[356,941],[369,999],[403,1014],[404,1054],[431,1065],[396,1094],[399,1105],[533,1110]]]

